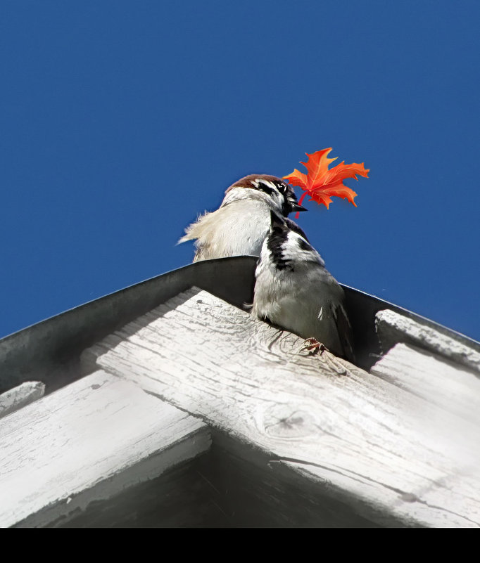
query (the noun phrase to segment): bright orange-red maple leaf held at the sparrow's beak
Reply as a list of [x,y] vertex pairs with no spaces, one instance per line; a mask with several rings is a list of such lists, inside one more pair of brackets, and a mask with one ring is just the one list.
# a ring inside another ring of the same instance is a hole
[[[330,151],[331,148],[324,148],[323,150],[317,150],[316,153],[311,155],[305,153],[308,156],[308,161],[301,162],[301,164],[305,165],[308,174],[303,174],[295,169],[289,176],[284,176],[284,180],[289,181],[292,186],[298,186],[304,190],[298,201],[300,205],[305,195],[310,195],[310,198],[312,198],[310,201],[314,200],[318,204],[323,203],[328,209],[331,204],[330,196],[336,195],[337,198],[344,198],[357,207],[357,204],[353,201],[357,194],[350,190],[350,188],[347,188],[347,186],[344,186],[343,180],[346,178],[358,180],[357,174],[368,178],[370,170],[365,169],[363,162],[362,164],[345,164],[344,160],[329,169],[329,164],[336,160],[336,158],[329,158],[327,156]],[[298,218],[298,213],[296,218]]]

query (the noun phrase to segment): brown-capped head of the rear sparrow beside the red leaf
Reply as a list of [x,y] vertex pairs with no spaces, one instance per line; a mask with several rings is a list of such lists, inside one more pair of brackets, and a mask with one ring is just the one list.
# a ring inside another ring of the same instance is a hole
[[271,209],[285,217],[292,212],[307,211],[305,207],[298,205],[295,192],[288,183],[267,174],[250,174],[233,183],[225,192],[222,206],[234,200],[245,199],[263,200]]

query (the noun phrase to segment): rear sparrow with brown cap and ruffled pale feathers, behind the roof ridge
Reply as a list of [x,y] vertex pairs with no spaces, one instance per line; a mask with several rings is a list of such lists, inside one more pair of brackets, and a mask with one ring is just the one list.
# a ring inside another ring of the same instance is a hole
[[271,213],[306,239],[302,229],[287,218],[297,211],[307,209],[298,205],[288,183],[277,176],[251,174],[227,188],[220,207],[198,217],[178,242],[196,240],[194,262],[242,254],[260,256]]

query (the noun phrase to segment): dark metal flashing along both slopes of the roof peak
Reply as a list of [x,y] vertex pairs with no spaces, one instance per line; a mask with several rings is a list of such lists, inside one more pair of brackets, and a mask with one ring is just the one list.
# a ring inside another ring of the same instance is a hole
[[[192,285],[244,308],[253,301],[257,257],[198,261],[65,311],[0,339],[0,393],[41,380],[51,392],[80,377],[82,351]],[[474,340],[401,307],[343,285],[358,365],[369,369],[380,354],[377,311],[391,309],[480,352]]]

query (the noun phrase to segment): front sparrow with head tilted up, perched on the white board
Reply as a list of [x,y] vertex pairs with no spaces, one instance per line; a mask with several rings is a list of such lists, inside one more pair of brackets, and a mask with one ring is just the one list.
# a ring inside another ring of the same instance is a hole
[[342,287],[308,240],[273,212],[255,270],[251,313],[355,360]]

